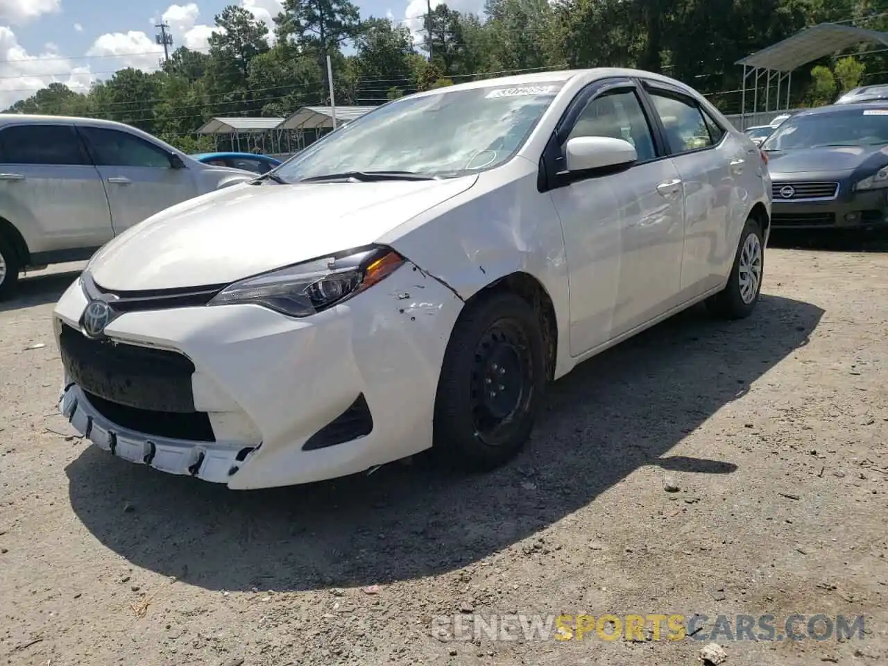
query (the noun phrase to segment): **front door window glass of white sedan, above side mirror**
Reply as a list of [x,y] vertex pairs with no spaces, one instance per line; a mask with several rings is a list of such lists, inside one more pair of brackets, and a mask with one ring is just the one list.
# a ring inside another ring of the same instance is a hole
[[624,139],[635,147],[639,162],[653,160],[656,156],[650,125],[633,91],[614,92],[592,99],[576,119],[567,139],[575,137]]

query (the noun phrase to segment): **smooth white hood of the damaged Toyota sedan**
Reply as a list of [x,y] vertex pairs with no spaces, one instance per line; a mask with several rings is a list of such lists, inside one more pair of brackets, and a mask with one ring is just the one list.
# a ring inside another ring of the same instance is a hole
[[115,291],[236,281],[375,242],[477,179],[241,183],[147,218],[108,242],[88,269]]

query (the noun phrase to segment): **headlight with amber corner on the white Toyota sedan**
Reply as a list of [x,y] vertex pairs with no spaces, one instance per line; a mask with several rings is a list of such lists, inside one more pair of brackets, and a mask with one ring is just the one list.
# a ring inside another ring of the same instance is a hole
[[391,248],[348,250],[234,282],[209,305],[252,303],[291,317],[307,317],[369,289],[403,263],[404,258]]

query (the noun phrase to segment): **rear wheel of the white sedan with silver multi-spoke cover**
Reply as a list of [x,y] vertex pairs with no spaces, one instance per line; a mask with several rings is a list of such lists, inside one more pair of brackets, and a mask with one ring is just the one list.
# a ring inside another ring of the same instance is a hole
[[737,254],[733,259],[731,275],[725,289],[706,302],[710,311],[725,319],[749,317],[758,303],[765,276],[765,242],[755,218],[748,218]]

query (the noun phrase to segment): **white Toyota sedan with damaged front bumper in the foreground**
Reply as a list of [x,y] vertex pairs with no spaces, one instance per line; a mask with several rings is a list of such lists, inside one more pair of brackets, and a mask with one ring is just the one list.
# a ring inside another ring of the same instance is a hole
[[753,310],[763,160],[636,70],[396,99],[99,250],[54,311],[60,408],[115,456],[229,488],[429,448],[491,469],[577,363],[704,299]]

